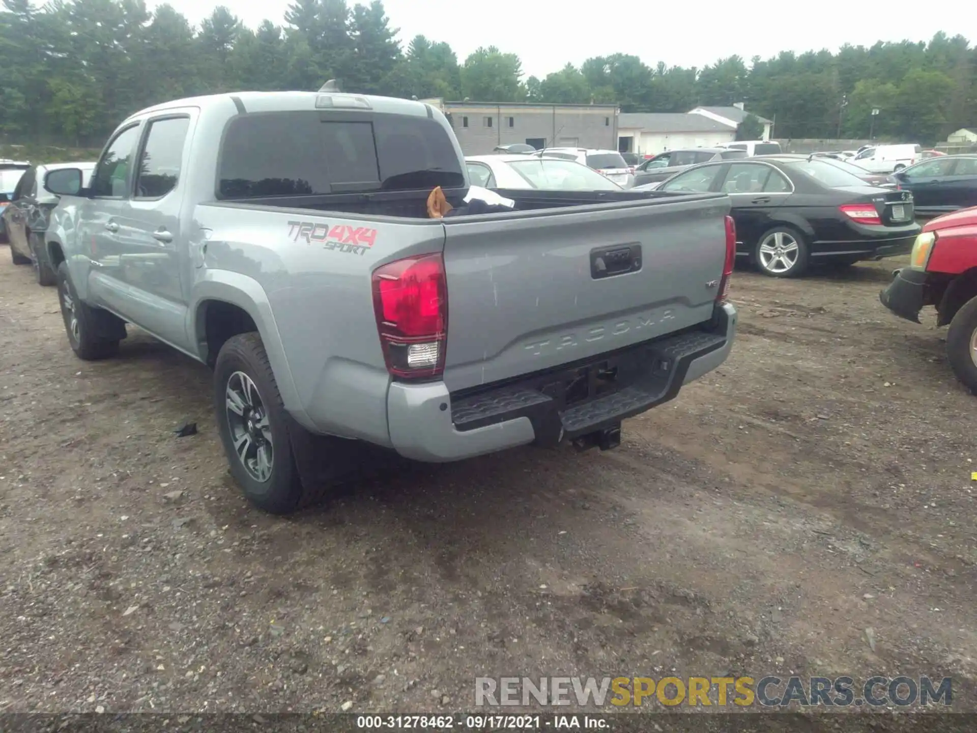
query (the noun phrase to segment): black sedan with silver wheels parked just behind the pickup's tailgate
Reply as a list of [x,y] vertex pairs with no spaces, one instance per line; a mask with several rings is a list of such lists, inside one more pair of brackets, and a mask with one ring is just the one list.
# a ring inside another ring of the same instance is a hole
[[913,194],[868,186],[817,158],[703,163],[655,191],[729,194],[737,255],[774,278],[797,277],[812,262],[847,265],[906,254],[920,232]]

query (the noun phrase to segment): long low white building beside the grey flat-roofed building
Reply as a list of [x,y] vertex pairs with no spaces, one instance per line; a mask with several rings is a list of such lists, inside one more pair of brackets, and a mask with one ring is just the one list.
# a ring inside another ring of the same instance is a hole
[[653,155],[682,148],[713,148],[735,138],[735,125],[701,114],[621,112],[617,118],[617,150],[621,152]]

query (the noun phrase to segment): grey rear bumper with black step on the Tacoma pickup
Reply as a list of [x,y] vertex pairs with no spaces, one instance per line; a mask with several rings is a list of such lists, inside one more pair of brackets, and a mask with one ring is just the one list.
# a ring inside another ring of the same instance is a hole
[[[736,323],[736,309],[727,304],[708,330],[665,336],[460,397],[452,398],[442,382],[394,383],[387,398],[391,443],[405,457],[446,462],[530,443],[553,446],[603,430],[668,402],[684,384],[719,367],[733,347]],[[607,369],[622,380],[620,388],[567,404],[573,389],[587,389],[582,385],[588,380],[594,385],[598,370]],[[564,389],[567,381],[576,386]]]

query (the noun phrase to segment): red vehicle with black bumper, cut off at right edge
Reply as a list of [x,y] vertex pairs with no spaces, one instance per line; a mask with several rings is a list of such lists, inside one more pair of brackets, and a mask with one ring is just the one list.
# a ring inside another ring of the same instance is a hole
[[936,306],[937,325],[950,323],[950,366],[977,395],[977,206],[927,222],[913,244],[910,266],[893,273],[879,299],[915,323],[923,306]]

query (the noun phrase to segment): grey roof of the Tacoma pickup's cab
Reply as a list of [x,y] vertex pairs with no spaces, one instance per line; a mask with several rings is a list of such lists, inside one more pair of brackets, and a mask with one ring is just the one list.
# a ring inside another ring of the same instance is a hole
[[145,114],[163,112],[169,109],[195,107],[200,109],[218,106],[234,106],[238,112],[268,112],[268,111],[301,111],[305,109],[328,111],[328,108],[317,108],[319,97],[342,97],[364,100],[370,110],[388,114],[411,114],[415,116],[428,115],[434,109],[423,102],[402,100],[396,97],[374,97],[366,94],[348,94],[345,92],[228,92],[224,94],[210,94],[202,97],[187,97],[160,105],[140,109],[130,114],[126,119],[133,119]]

